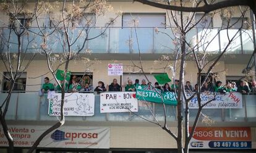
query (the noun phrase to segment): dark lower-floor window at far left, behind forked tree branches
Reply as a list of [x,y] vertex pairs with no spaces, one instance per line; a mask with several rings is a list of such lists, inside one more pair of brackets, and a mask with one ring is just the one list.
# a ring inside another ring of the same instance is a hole
[[[10,74],[4,73],[3,79],[2,79],[2,92],[8,92],[10,88]],[[14,85],[14,92],[25,92],[26,90],[26,82],[27,82],[27,73],[22,73],[22,75],[17,79],[17,82],[15,82]]]

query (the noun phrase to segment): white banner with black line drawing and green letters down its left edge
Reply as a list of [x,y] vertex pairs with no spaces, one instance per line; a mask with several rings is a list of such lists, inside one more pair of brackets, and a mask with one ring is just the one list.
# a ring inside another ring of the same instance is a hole
[[[95,96],[93,93],[65,93],[65,116],[93,116]],[[56,93],[49,99],[49,116],[60,116],[61,93]]]

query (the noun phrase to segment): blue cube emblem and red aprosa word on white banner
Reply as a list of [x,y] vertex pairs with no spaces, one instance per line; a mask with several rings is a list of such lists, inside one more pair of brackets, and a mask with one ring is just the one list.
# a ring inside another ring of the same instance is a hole
[[65,141],[71,139],[73,141],[75,138],[98,138],[98,133],[77,133],[77,132],[65,132],[61,130],[56,130],[51,134],[51,139],[54,141]]

